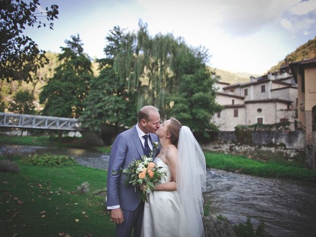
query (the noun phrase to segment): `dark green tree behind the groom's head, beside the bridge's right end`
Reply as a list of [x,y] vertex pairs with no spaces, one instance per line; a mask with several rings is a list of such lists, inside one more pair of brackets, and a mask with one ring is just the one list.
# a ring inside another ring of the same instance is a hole
[[106,67],[98,78],[91,81],[90,92],[84,101],[80,117],[82,127],[99,131],[104,124],[130,126],[136,121],[136,105],[125,90],[125,84],[118,80],[111,66]]

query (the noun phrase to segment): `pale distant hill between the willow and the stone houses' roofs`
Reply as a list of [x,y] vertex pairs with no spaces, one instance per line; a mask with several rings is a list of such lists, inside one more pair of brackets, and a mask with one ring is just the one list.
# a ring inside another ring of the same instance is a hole
[[247,82],[247,81],[249,81],[250,76],[253,76],[255,78],[261,76],[261,75],[254,75],[254,74],[249,74],[249,73],[239,73],[239,72],[231,73],[228,71],[224,71],[221,69],[215,69],[212,67],[210,67],[210,70],[215,72],[215,74],[217,76],[220,76],[221,81],[228,82],[231,84],[237,83],[237,82]]

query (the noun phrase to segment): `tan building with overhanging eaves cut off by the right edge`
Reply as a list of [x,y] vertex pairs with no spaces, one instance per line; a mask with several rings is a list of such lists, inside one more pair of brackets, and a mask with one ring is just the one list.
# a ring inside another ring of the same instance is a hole
[[291,63],[290,68],[298,85],[298,121],[306,127],[305,164],[315,169],[316,59]]

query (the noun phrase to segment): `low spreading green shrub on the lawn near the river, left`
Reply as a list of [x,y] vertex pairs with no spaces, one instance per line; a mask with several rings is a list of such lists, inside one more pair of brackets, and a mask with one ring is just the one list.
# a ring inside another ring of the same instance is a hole
[[28,157],[21,159],[20,162],[27,165],[59,167],[78,165],[78,162],[74,158],[52,154],[29,155]]

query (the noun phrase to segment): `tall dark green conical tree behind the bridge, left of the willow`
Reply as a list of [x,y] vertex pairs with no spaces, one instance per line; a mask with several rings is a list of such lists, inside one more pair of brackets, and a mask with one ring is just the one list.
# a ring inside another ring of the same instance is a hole
[[60,65],[40,93],[40,103],[45,105],[43,115],[79,118],[83,111],[83,100],[89,91],[93,72],[90,59],[83,53],[79,35],[71,38],[65,40],[67,47],[61,47]]

